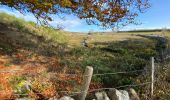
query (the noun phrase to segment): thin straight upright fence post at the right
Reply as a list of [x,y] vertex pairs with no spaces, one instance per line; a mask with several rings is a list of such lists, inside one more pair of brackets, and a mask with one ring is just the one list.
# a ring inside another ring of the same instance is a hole
[[155,71],[155,62],[154,62],[154,57],[151,58],[152,62],[152,74],[151,74],[151,100],[153,100],[153,90],[154,90],[154,71]]

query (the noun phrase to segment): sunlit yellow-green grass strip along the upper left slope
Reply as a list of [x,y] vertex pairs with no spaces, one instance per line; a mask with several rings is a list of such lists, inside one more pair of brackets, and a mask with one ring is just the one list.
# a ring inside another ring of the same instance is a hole
[[58,43],[66,43],[68,41],[67,33],[64,31],[55,30],[42,25],[36,25],[34,22],[25,21],[24,19],[16,18],[15,16],[8,15],[6,13],[0,13],[0,22],[11,25],[21,32],[43,36],[46,40],[52,40]]

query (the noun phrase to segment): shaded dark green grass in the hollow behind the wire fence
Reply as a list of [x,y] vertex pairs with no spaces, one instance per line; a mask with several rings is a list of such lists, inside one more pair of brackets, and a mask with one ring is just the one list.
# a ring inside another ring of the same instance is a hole
[[[73,48],[70,51],[70,58],[73,59],[65,59],[63,62],[67,62],[67,66],[72,68],[77,65],[82,69],[92,66],[94,74],[141,70],[149,65],[150,57],[158,54],[155,49],[156,43],[148,39],[95,43],[97,46],[94,48]],[[134,79],[140,74],[110,75],[93,79],[105,87],[116,87],[134,84]],[[116,83],[113,84],[113,81]]]

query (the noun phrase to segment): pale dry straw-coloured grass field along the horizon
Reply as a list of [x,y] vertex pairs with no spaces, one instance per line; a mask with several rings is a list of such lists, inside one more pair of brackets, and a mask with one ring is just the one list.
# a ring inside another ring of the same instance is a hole
[[94,33],[87,35],[86,33],[71,33],[69,34],[68,44],[72,47],[81,46],[83,39],[87,39],[87,42],[93,44],[95,42],[112,42],[112,41],[124,41],[129,39],[142,39],[143,37],[136,35],[160,35],[170,38],[168,33],[162,34],[162,32],[138,32],[138,33]]

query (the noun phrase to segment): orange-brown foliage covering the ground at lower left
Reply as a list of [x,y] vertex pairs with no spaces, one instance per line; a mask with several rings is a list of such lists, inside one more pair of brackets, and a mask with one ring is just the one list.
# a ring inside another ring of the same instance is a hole
[[[47,58],[31,54],[30,51],[19,49],[17,51],[18,52],[12,55],[12,59],[21,61],[21,63],[17,65],[11,64],[8,67],[4,66],[6,63],[11,63],[11,56],[8,58],[0,55],[0,71],[15,70],[15,72],[12,73],[0,73],[0,100],[3,100],[3,98],[14,98],[12,86],[15,84],[11,84],[9,81],[10,78],[14,76],[25,76],[31,79],[32,88],[46,98],[56,96],[56,94],[58,94],[57,97],[60,97],[65,94],[60,93],[60,91],[75,91],[75,87],[78,88],[78,86],[82,85],[82,72],[80,69],[71,71],[68,68],[63,72],[62,68],[59,66],[59,60],[56,57]],[[58,72],[48,73],[47,69],[49,64],[52,66],[59,66],[60,68],[57,68]],[[76,75],[67,75],[69,73],[74,73]],[[29,97],[38,98],[37,94],[34,92],[30,92]]]

